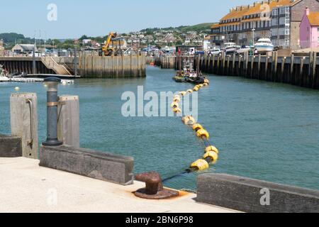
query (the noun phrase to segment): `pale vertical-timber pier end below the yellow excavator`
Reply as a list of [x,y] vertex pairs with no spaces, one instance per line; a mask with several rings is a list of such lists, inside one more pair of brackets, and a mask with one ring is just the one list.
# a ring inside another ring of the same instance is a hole
[[130,78],[146,76],[145,55],[79,55],[79,74],[84,78]]

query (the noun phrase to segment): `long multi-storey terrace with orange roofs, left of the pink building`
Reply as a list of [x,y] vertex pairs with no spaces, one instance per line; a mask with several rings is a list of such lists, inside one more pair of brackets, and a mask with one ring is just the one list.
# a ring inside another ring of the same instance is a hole
[[248,6],[236,6],[211,27],[211,41],[252,45],[259,38],[271,38],[275,46],[300,48],[299,26],[303,12],[319,11],[318,0],[268,0]]

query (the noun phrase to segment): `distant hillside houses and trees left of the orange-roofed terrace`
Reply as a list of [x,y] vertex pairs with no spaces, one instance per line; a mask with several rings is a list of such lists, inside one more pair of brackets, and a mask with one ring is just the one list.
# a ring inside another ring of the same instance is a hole
[[[180,26],[177,28],[147,28],[138,32],[117,33],[111,46],[116,46],[123,50],[175,50],[178,45],[203,46],[206,39],[209,43],[211,26],[213,23],[203,23],[196,26]],[[116,33],[116,31],[114,31]],[[40,38],[44,34],[38,31],[35,38],[26,38],[17,33],[2,33],[0,40],[2,51],[0,55],[13,55],[29,53],[36,43],[38,52],[66,52],[69,49],[78,50],[99,50],[103,43],[108,39],[108,35],[91,37],[82,35],[74,39],[45,39]],[[209,45],[210,47],[210,45]],[[207,45],[208,48],[208,45]]]

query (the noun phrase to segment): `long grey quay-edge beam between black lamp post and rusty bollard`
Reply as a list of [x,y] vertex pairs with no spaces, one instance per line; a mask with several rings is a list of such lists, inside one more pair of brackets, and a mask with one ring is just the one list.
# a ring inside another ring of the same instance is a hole
[[42,146],[40,166],[116,184],[133,184],[133,157],[111,155],[65,145]]

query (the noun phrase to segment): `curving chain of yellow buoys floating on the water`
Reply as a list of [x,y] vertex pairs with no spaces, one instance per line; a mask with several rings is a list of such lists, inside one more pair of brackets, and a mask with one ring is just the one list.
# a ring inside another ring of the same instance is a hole
[[[186,96],[187,94],[191,94],[193,92],[198,92],[202,87],[206,87],[209,85],[209,80],[205,79],[203,84],[198,84],[194,87],[194,89],[189,89],[186,92],[179,92],[179,95],[174,96],[172,102],[172,109],[175,114],[181,113],[181,109],[179,108],[179,101],[181,98]],[[206,131],[201,124],[197,123],[193,116],[184,116],[181,121],[184,122],[185,125],[191,126],[193,130],[196,132],[198,138],[203,139],[205,143],[205,154],[201,159],[193,162],[186,172],[194,172],[198,170],[207,170],[209,168],[209,164],[214,164],[218,160],[218,149],[216,146],[211,145],[209,143],[209,133]]]

